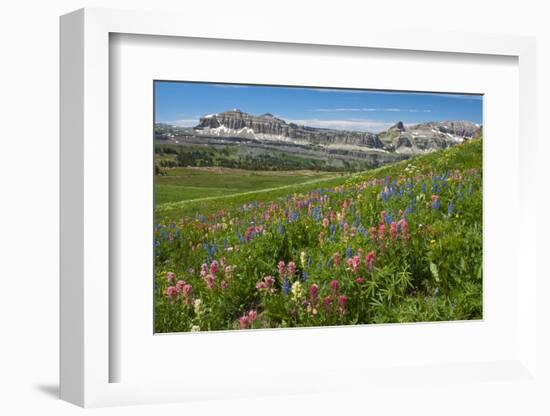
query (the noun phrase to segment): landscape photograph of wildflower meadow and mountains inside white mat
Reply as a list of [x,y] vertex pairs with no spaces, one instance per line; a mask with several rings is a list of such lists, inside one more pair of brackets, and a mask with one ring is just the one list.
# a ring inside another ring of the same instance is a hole
[[155,80],[154,332],[483,319],[483,95]]

